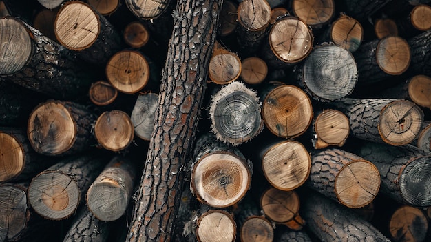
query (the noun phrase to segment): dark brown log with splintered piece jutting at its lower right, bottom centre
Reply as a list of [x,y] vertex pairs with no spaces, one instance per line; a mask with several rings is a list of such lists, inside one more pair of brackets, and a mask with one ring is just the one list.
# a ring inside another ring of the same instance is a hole
[[292,230],[301,230],[306,223],[299,216],[299,196],[293,190],[269,188],[261,196],[260,207],[271,221]]

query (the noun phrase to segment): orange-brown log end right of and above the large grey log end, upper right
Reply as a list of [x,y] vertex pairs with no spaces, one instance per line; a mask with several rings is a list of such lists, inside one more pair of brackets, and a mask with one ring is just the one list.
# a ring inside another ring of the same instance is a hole
[[403,74],[408,69],[411,59],[410,46],[401,37],[385,37],[377,44],[377,65],[387,74]]

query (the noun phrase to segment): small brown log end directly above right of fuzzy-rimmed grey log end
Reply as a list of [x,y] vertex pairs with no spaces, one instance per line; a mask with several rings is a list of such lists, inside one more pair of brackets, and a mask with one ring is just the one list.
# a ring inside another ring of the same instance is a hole
[[258,57],[249,57],[242,60],[241,79],[251,85],[264,81],[268,74],[268,66],[265,61]]

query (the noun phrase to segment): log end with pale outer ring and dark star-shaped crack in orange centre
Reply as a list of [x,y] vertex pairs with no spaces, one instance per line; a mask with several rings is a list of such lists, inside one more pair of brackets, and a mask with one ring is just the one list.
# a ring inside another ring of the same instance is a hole
[[191,172],[191,187],[198,200],[213,208],[237,203],[250,184],[251,170],[246,161],[228,152],[204,155]]

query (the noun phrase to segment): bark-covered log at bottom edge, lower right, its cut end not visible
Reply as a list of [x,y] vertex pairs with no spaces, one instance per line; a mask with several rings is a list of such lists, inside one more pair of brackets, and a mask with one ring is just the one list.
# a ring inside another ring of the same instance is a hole
[[302,215],[320,241],[390,241],[359,215],[315,192],[307,193]]

